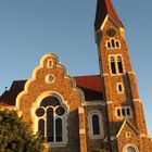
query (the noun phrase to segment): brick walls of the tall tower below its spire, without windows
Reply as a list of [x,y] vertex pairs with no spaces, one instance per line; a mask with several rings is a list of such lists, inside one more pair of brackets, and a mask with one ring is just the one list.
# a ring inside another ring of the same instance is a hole
[[[115,30],[114,36],[107,35],[107,30],[110,29]],[[117,116],[116,107],[129,106],[132,112],[132,116],[129,117],[128,121],[134,127],[129,127],[129,123],[126,123],[116,140],[111,140],[111,151],[122,152],[126,144],[131,143],[135,144],[135,148],[137,147],[139,151],[151,152],[149,148],[152,143],[148,138],[144,112],[139,98],[136,76],[131,68],[124,29],[107,15],[101,25],[100,31],[97,31],[96,38],[99,51],[100,72],[104,83],[104,100],[107,105],[106,117],[109,118],[109,132],[112,137],[116,137],[125,121],[125,117],[119,118]],[[107,47],[106,42],[112,38],[119,41],[119,48]],[[118,73],[118,63],[116,61],[118,55],[122,58],[123,65],[123,73],[121,74]],[[114,72],[112,73],[111,56],[115,59],[116,74]],[[117,83],[123,84],[123,93],[117,92]],[[139,134],[136,134],[134,128],[136,128]],[[129,139],[125,137],[126,131],[131,132]],[[107,132],[105,132],[105,136],[109,136]]]

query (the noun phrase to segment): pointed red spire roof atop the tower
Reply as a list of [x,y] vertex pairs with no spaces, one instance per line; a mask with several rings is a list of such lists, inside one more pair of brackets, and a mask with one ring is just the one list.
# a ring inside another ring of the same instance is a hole
[[100,29],[106,15],[111,16],[119,27],[124,28],[121,20],[118,18],[118,15],[116,14],[116,11],[115,11],[111,0],[98,0],[96,21],[94,21],[96,30]]

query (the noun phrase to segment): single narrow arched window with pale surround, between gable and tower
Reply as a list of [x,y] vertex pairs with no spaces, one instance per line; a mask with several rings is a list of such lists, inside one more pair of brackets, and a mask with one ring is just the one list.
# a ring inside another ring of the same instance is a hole
[[89,136],[92,139],[104,137],[102,114],[99,111],[92,111],[88,115]]

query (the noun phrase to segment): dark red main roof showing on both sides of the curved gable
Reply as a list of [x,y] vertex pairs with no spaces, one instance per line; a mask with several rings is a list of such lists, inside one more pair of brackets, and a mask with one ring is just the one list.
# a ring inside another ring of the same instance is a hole
[[[103,85],[99,75],[76,76],[74,79],[87,101],[103,100]],[[14,80],[10,90],[4,91],[0,97],[0,105],[14,106],[18,93],[24,90],[25,83],[26,80]]]

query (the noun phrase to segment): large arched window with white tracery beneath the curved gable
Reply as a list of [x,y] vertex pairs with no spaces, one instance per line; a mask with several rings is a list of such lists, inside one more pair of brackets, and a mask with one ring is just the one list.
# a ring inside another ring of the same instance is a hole
[[36,109],[38,131],[48,142],[64,142],[65,115],[65,105],[53,96],[46,97]]

